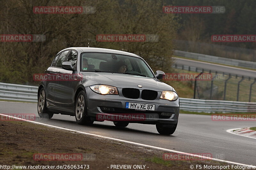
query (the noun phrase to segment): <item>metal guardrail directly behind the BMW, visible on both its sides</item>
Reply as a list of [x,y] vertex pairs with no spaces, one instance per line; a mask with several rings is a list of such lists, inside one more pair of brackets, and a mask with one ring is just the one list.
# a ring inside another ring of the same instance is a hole
[[[0,99],[37,102],[37,86],[0,83]],[[180,109],[192,112],[256,112],[256,103],[180,98]]]

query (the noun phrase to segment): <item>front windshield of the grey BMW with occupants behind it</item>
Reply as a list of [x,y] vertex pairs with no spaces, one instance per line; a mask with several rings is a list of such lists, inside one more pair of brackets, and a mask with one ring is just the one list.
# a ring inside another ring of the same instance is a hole
[[113,72],[154,78],[147,64],[138,57],[110,53],[83,53],[81,71]]

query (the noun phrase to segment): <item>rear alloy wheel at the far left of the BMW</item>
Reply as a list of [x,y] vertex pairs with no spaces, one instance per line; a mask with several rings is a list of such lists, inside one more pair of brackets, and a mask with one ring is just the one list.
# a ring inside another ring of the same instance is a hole
[[37,97],[37,113],[39,117],[51,119],[53,116],[52,112],[47,111],[46,107],[46,96],[44,88],[42,88]]

